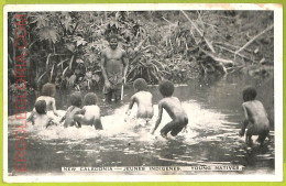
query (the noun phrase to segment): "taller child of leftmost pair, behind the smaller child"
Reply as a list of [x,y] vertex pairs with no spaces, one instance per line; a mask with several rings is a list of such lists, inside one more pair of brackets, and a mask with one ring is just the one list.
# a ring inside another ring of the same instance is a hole
[[[36,101],[40,100],[44,100],[46,102],[46,111],[52,111],[54,113],[54,116],[58,116],[56,112],[56,101],[55,101],[55,95],[56,95],[56,87],[53,84],[45,84],[42,87],[42,96],[40,96],[38,98],[36,98]],[[31,121],[32,123],[34,123],[33,121],[33,116],[34,116],[35,110],[33,110],[30,114],[30,117],[26,119],[28,121]]]

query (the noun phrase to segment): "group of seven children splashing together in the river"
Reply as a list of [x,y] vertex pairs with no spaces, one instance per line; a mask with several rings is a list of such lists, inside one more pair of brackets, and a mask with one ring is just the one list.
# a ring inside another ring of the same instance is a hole
[[[131,109],[134,103],[138,105],[136,118],[144,119],[146,123],[153,118],[153,101],[152,94],[147,91],[147,84],[144,79],[138,78],[133,83],[133,88],[135,94],[131,97],[131,101],[127,111],[127,116],[131,113]],[[152,134],[158,128],[163,109],[169,114],[172,121],[165,124],[161,129],[161,135],[166,138],[169,133],[172,136],[177,135],[186,125],[188,124],[188,116],[184,110],[182,102],[178,98],[173,97],[175,90],[174,84],[169,80],[163,80],[158,85],[158,91],[163,96],[163,99],[158,102],[158,116],[155,122],[154,129],[151,131]],[[57,122],[53,116],[58,116],[56,111],[55,102],[55,86],[53,84],[45,84],[42,88],[42,96],[40,96],[34,106],[34,110],[29,117],[29,121],[32,124],[41,124],[44,127],[50,127],[52,124],[59,124],[64,122],[64,127],[77,127],[81,125],[95,125],[96,130],[102,130],[102,123],[100,119],[100,108],[97,106],[97,95],[95,92],[88,92],[84,98],[84,107],[81,106],[81,94],[74,92],[70,96],[72,106],[66,110],[66,114]],[[241,136],[244,135],[245,130],[245,142],[252,143],[252,135],[258,135],[257,142],[263,144],[264,140],[268,138],[270,140],[270,121],[267,113],[261,101],[255,100],[256,90],[253,87],[245,87],[243,92],[242,103],[244,112],[244,121],[242,128],[239,132]]]

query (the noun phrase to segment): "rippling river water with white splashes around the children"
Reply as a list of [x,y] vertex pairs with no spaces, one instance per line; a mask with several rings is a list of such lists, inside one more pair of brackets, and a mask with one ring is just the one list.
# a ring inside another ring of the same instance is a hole
[[[244,139],[238,135],[239,123],[243,117],[241,91],[245,85],[256,87],[257,99],[264,103],[273,129],[273,78],[199,79],[189,81],[187,86],[176,87],[174,95],[183,101],[183,106],[188,113],[189,124],[187,130],[175,140],[161,138],[160,129],[157,129],[155,135],[151,135],[150,129],[154,127],[154,121],[150,127],[138,127],[141,121],[135,121],[132,117],[128,119],[128,122],[124,122],[128,98],[133,94],[132,89],[125,89],[123,103],[107,106],[99,102],[103,131],[96,131],[91,127],[82,127],[81,129],[53,127],[43,130],[29,125],[26,129],[28,174],[33,172],[35,174],[56,173],[58,175],[62,166],[191,166],[217,164],[245,166],[244,171],[238,172],[238,174],[273,174],[274,142],[266,142],[263,147],[260,147],[258,144],[249,146],[244,143]],[[150,90],[154,95],[156,116],[156,103],[162,97],[156,87],[152,87]],[[99,95],[99,98],[102,99],[101,95]],[[57,107],[59,109],[67,108],[64,102],[67,102],[67,100],[66,97],[62,96],[61,99],[57,99]],[[61,113],[64,114],[64,111]],[[160,128],[164,127],[169,120],[164,112]],[[14,168],[14,124],[13,117],[10,117],[10,173]],[[274,139],[273,131],[271,135]],[[188,172],[185,174],[198,173]]]

